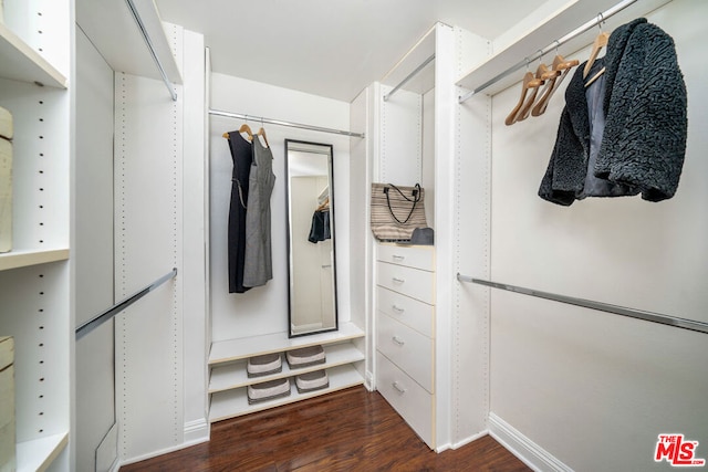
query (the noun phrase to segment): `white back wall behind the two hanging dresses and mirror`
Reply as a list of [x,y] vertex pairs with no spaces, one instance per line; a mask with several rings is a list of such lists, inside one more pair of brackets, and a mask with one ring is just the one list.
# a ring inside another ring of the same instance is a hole
[[[347,103],[247,81],[211,75],[211,108],[263,116],[313,126],[348,129]],[[227,235],[232,160],[225,132],[243,120],[210,118],[210,279],[212,340],[288,331],[288,255],[285,217],[284,140],[298,139],[334,146],[334,201],[336,224],[337,297],[340,323],[351,319],[350,308],[350,138],[266,124],[273,153],[275,187],[271,196],[273,280],[243,294],[229,294]],[[259,122],[249,122],[253,132]]]

